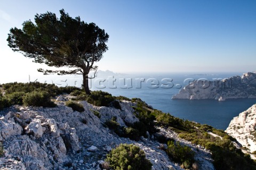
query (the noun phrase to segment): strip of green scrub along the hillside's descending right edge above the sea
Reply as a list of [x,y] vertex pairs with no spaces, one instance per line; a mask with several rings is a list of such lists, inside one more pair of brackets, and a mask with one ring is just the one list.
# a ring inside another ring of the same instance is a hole
[[[230,137],[224,131],[214,129],[210,125],[202,125],[199,123],[182,120],[170,114],[165,114],[161,111],[151,109],[138,98],[132,99],[132,101],[137,103],[137,107],[134,107],[134,109],[135,115],[140,121],[142,120],[143,122],[143,120],[147,120],[149,123],[174,130],[175,132],[179,133],[180,138],[186,139],[192,143],[195,143],[196,145],[201,145],[206,149],[211,150],[215,169],[256,169],[256,163],[250,158],[249,155],[244,154],[241,149],[237,149],[233,144],[235,139]],[[147,130],[150,131],[149,129]],[[213,137],[208,132],[217,134],[222,137],[222,139],[219,137]],[[170,157],[173,158],[173,156]],[[184,167],[191,166],[193,163],[192,159],[189,164],[186,161],[186,163],[182,162],[181,157],[180,160],[175,158],[173,160],[178,163],[182,163]]]

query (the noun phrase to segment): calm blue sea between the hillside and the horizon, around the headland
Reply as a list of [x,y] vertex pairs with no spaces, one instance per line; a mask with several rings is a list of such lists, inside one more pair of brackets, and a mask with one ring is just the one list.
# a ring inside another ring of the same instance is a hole
[[[158,74],[115,74],[93,80],[91,90],[107,91],[113,96],[141,98],[147,104],[184,120],[209,124],[226,130],[233,117],[256,103],[256,99],[186,100],[172,99],[185,87],[189,80],[224,79],[243,73],[158,73]],[[114,81],[115,80],[115,81]],[[143,80],[143,81],[142,81]],[[126,86],[125,86],[126,85]],[[161,87],[162,85],[162,87]],[[163,88],[165,87],[165,88]]]

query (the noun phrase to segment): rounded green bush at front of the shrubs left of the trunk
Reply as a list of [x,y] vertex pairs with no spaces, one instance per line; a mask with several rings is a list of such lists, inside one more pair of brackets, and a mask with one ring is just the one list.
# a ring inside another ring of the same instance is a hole
[[50,94],[46,91],[28,92],[25,96],[23,96],[23,104],[26,106],[43,106],[43,107],[56,106],[51,101]]

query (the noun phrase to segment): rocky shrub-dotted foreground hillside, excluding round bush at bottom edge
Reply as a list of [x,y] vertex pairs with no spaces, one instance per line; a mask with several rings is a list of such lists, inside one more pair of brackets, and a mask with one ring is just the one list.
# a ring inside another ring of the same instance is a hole
[[152,169],[255,168],[225,132],[137,98],[41,83],[1,87],[1,169],[110,169],[106,156],[121,143],[138,146]]

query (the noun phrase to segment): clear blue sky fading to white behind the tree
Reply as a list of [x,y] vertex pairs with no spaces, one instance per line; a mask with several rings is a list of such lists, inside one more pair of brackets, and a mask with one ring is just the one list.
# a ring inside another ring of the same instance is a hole
[[36,13],[94,22],[109,34],[99,70],[249,72],[256,64],[256,1],[1,1],[0,83],[45,67],[13,52],[7,34]]

